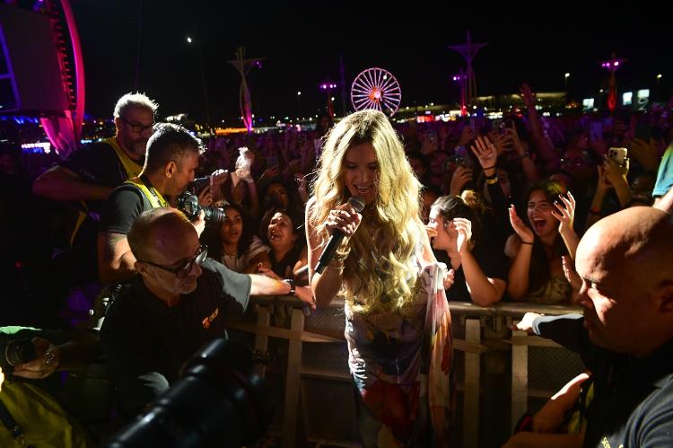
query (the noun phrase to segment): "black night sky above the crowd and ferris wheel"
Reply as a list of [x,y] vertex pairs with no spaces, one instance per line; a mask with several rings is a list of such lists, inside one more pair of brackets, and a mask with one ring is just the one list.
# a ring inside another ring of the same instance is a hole
[[[86,110],[96,117],[109,117],[118,97],[137,88],[160,103],[160,117],[188,112],[205,118],[197,47],[188,44],[188,36],[200,41],[211,118],[229,125],[240,115],[240,76],[226,60],[239,46],[247,57],[267,57],[249,75],[258,117],[318,113],[325,105],[318,84],[339,81],[340,55],[349,88],[361,70],[380,66],[398,78],[405,106],[458,101],[450,76],[463,62],[447,46],[463,43],[467,30],[473,41],[488,42],[474,63],[478,94],[516,92],[523,81],[534,90],[559,91],[570,72],[572,96],[581,99],[599,89],[605,78],[599,61],[612,51],[628,58],[617,72],[620,89],[649,87],[662,96],[673,85],[669,13],[643,2],[638,2],[642,13],[614,4],[567,2],[533,9],[515,2],[482,2],[474,8],[418,1],[405,7],[391,2],[71,2],[83,40]],[[657,74],[663,75],[659,87]]]

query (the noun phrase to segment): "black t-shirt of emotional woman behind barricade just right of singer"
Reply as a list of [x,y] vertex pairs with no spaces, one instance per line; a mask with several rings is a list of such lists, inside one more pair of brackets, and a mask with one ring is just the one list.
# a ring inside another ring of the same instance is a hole
[[[446,263],[446,267],[451,268],[451,260],[445,250],[433,250],[433,252],[437,261]],[[476,244],[470,253],[486,277],[507,281],[507,259],[502,247],[485,243]],[[465,273],[463,272],[462,264],[454,272],[453,285],[446,290],[446,296],[449,300],[472,302],[472,297],[468,291],[468,284],[465,282]]]

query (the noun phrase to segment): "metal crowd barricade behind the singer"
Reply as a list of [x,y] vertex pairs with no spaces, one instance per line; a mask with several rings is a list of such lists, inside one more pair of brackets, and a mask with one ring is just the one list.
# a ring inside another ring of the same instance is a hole
[[[279,349],[284,358],[279,363],[284,384],[282,446],[359,446],[343,303],[334,301],[308,317],[296,297],[255,297],[252,305],[253,312],[230,321],[229,328],[252,335],[251,347],[262,354],[269,350],[269,338],[286,344]],[[450,312],[453,368],[462,399],[456,409],[457,445],[502,444],[519,417],[535,408],[535,400],[541,405],[582,370],[579,356],[554,342],[511,331],[526,312],[581,312],[578,307],[450,303]],[[262,376],[267,374],[265,365],[257,368]]]

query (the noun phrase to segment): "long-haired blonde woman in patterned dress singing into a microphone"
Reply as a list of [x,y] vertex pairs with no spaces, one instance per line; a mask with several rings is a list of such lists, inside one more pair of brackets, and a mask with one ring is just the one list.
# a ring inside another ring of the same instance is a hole
[[[348,202],[355,196],[365,204],[362,214]],[[332,128],[306,218],[310,286],[321,306],[344,298],[368,447],[446,444],[450,313],[419,202],[418,180],[384,114],[355,112]],[[313,267],[336,230],[345,240],[318,272]]]

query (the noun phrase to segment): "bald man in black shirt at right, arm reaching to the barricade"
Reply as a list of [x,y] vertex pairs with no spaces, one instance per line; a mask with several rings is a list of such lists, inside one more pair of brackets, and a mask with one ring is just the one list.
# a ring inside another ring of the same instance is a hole
[[584,315],[527,313],[519,329],[593,373],[584,446],[673,445],[673,215],[631,207],[594,224],[575,265]]

